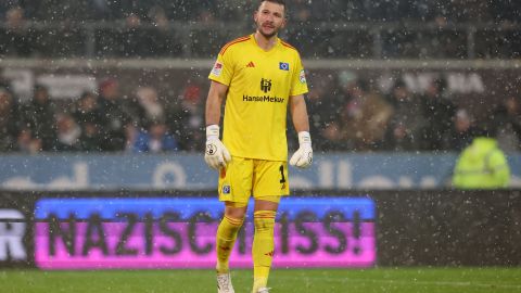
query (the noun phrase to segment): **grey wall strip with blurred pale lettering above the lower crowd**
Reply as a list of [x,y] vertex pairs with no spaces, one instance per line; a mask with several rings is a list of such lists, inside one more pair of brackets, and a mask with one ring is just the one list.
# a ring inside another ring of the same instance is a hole
[[[8,60],[0,63],[0,79],[15,95],[30,99],[37,84],[49,87],[54,99],[75,100],[82,91],[97,91],[105,78],[119,81],[120,93],[132,99],[140,87],[153,87],[165,103],[182,99],[187,85],[198,85],[205,92],[213,60]],[[436,80],[446,84],[447,99],[484,115],[490,106],[517,94],[517,63],[496,61],[351,61],[305,60],[307,79],[326,102],[339,94],[339,87],[366,80],[386,94],[403,81],[415,93],[429,90]],[[123,86],[124,85],[124,86]],[[200,97],[200,99],[202,99]]]

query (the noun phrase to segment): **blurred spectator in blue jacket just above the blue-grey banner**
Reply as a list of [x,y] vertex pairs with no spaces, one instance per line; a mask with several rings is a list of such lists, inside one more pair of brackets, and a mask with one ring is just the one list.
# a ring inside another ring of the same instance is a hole
[[140,131],[134,144],[137,153],[161,153],[177,151],[176,139],[167,132],[167,127],[162,120],[153,120],[148,130]]

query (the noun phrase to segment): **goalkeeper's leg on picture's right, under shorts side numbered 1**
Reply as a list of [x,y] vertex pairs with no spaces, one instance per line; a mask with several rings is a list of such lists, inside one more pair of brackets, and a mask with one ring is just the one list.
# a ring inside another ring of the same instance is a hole
[[[266,286],[275,251],[275,218],[281,196],[289,194],[287,162],[255,162],[255,198],[252,256],[253,292],[267,292]],[[263,291],[266,290],[266,291]]]

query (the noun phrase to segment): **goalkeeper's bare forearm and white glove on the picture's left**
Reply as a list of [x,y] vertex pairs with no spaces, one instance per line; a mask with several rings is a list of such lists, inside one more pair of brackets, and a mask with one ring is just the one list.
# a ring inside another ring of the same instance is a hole
[[209,85],[206,99],[206,152],[204,160],[209,167],[218,170],[226,167],[231,156],[225,144],[219,140],[220,107],[226,99],[228,86],[213,81]]

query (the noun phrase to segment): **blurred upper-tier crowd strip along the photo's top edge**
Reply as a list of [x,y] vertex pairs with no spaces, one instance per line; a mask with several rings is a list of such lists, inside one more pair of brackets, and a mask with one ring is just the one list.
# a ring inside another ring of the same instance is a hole
[[[519,22],[521,4],[514,0],[287,0],[295,21],[348,22]],[[2,16],[21,8],[28,20],[81,22],[242,21],[257,1],[189,0],[3,0]],[[129,20],[129,17],[131,17]]]

